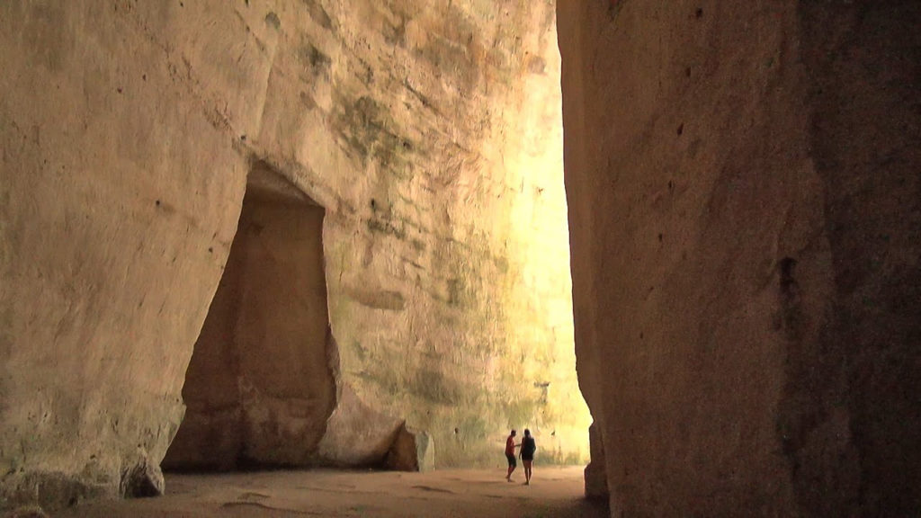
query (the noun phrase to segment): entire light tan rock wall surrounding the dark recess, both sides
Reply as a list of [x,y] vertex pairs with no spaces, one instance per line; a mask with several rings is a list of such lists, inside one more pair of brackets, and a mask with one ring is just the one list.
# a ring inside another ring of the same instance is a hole
[[6,501],[162,459],[254,159],[326,210],[328,462],[584,457],[555,45],[543,2],[0,4]]

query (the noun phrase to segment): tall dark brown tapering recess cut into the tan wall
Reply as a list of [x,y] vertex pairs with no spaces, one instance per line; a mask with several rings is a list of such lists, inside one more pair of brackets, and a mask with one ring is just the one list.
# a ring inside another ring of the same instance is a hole
[[192,352],[185,418],[163,467],[310,465],[335,399],[324,209],[257,161],[224,275]]

